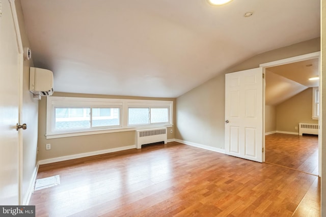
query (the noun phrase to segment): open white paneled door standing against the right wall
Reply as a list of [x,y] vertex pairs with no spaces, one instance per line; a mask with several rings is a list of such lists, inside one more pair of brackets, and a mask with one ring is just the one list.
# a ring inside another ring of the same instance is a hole
[[225,152],[262,162],[263,69],[225,75]]

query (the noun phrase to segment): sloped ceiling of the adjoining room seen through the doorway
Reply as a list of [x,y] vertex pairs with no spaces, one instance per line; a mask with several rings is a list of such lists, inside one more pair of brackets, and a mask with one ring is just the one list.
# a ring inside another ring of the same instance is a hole
[[267,68],[265,104],[276,106],[309,87],[318,86],[318,80],[309,80],[318,77],[318,70],[318,58]]

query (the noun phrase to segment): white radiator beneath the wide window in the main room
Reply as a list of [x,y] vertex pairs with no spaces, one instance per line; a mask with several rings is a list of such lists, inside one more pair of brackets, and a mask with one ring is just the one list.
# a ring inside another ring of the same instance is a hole
[[150,130],[137,130],[136,131],[136,147],[142,148],[142,145],[154,142],[168,142],[167,128],[156,128]]

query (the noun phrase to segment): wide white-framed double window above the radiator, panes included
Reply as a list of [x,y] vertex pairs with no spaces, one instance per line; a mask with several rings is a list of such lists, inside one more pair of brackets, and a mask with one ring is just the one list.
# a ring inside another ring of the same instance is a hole
[[47,97],[46,138],[172,125],[173,101]]

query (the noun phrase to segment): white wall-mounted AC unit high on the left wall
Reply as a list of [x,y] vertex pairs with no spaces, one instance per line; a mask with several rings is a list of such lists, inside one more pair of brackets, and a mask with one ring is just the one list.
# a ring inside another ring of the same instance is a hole
[[30,67],[30,91],[34,98],[53,94],[53,73],[47,69]]

